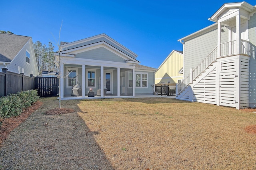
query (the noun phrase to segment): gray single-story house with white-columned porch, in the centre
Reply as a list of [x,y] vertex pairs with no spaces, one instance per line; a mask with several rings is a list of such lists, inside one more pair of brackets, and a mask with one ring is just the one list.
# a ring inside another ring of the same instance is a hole
[[55,63],[60,66],[61,99],[152,95],[157,69],[140,65],[136,57],[106,34],[62,42],[60,53],[55,53]]

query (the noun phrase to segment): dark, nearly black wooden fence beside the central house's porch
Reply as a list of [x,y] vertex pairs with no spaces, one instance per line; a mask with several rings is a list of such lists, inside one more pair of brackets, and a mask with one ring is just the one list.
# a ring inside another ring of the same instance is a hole
[[35,77],[35,89],[37,89],[40,97],[58,96],[59,79],[56,77]]

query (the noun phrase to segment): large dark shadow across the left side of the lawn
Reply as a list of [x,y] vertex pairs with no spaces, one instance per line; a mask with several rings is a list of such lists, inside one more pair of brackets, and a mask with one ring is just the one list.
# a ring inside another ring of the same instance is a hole
[[44,104],[14,129],[0,148],[0,169],[104,169],[112,170],[104,151],[77,114],[79,100],[62,101],[74,113],[46,115],[58,108],[55,98],[41,99]]

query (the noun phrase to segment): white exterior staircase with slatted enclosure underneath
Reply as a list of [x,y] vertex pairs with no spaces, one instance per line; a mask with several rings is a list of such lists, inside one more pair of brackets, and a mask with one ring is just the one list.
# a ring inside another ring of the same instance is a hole
[[249,41],[241,40],[241,45],[241,54],[223,53],[227,50],[221,46],[219,57],[214,48],[176,84],[176,99],[236,109],[249,107],[249,61],[255,49]]

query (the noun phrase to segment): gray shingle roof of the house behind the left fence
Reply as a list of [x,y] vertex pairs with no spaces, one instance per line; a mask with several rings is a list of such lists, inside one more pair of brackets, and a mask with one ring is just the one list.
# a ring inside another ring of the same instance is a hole
[[31,37],[0,33],[0,61],[11,62]]

